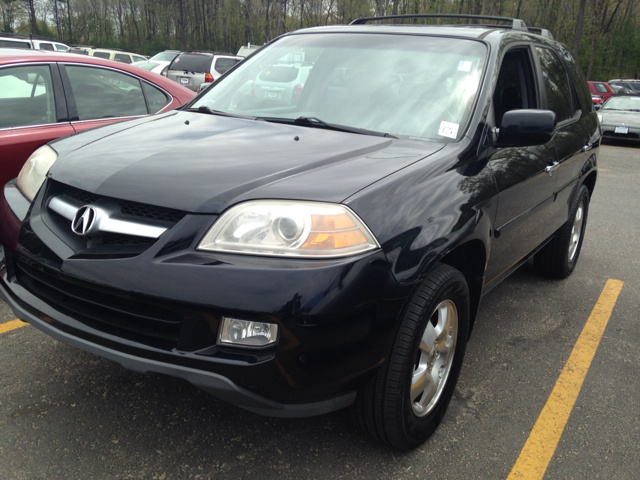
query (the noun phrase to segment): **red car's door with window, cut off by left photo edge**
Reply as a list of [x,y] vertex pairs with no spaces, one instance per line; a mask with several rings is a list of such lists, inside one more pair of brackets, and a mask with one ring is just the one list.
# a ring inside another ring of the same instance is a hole
[[0,186],[18,175],[34,150],[70,133],[55,64],[0,67]]

